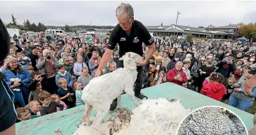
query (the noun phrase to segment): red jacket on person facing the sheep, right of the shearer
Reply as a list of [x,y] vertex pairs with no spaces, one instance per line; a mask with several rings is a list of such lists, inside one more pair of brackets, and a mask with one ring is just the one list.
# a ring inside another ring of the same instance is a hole
[[[174,79],[176,75],[178,75],[178,72],[181,72],[181,78],[182,81],[179,81],[178,79]],[[186,83],[188,81],[188,78],[186,77],[186,73],[182,70],[177,71],[175,68],[172,68],[167,75],[166,75],[166,81],[167,82],[173,82],[174,84],[178,84],[182,86],[182,83]]]

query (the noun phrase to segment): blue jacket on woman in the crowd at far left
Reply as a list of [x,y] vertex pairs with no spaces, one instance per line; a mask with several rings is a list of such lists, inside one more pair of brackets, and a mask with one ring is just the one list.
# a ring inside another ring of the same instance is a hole
[[[29,98],[29,92],[28,92],[26,87],[31,82],[31,74],[30,74],[30,72],[26,68],[23,68],[23,67],[20,67],[20,68],[22,70],[22,73],[20,74],[17,71],[17,75],[13,74],[13,72],[11,70],[9,70],[9,69],[4,69],[1,72],[3,74],[5,74],[5,82],[6,82],[6,84],[8,86],[12,85],[11,84],[12,82],[10,81],[11,78],[19,78],[23,85],[17,86],[15,88],[23,90],[25,92],[25,94],[26,94],[25,95],[26,98],[28,99]],[[12,90],[15,89],[15,88],[12,88]]]

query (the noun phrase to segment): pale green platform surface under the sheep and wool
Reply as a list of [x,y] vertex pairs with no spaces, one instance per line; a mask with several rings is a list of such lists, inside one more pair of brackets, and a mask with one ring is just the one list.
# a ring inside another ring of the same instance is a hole
[[[185,108],[192,108],[192,110],[198,109],[203,106],[222,106],[223,108],[227,108],[232,112],[236,113],[236,115],[238,115],[243,120],[248,130],[253,127],[253,115],[251,115],[250,113],[244,112],[243,110],[237,108],[233,108],[226,103],[222,103],[216,101],[215,99],[208,98],[207,96],[198,94],[197,92],[191,91],[182,86],[172,84],[171,82],[142,89],[141,92],[147,95],[148,98],[179,98]],[[134,108],[133,102],[126,94],[122,95],[121,107],[129,109]],[[63,135],[71,135],[77,129],[77,124],[80,123],[80,120],[84,115],[84,111],[85,106],[79,106],[77,108],[72,108],[17,123],[16,134],[56,135],[57,133],[54,133],[54,130],[60,128],[62,129]],[[95,115],[94,110],[92,111],[92,115]],[[106,117],[112,117],[112,115],[108,114],[106,115]]]

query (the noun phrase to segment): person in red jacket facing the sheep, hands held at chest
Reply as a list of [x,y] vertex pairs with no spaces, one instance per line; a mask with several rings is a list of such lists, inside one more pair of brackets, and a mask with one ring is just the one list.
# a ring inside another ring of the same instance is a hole
[[182,86],[182,83],[188,82],[188,78],[186,77],[186,73],[182,71],[183,63],[178,61],[175,64],[175,68],[170,70],[166,75],[167,82],[173,82],[174,84],[178,84]]

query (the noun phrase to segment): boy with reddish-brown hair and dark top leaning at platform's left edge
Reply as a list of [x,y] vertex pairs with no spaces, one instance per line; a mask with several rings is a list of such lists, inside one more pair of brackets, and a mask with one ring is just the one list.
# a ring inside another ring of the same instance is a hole
[[40,107],[41,116],[57,112],[57,107],[59,107],[60,110],[63,110],[64,108],[60,103],[51,102],[51,94],[47,91],[43,91],[39,94],[39,101],[43,104]]

